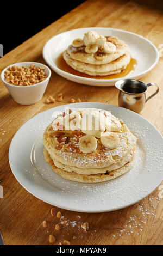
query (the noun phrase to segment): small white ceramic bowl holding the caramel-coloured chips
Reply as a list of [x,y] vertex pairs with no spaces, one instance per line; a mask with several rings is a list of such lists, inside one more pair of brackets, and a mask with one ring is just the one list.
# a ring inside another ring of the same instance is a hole
[[[45,74],[47,78],[40,82],[33,84],[32,86],[14,86],[10,83],[5,82],[4,80],[4,72],[10,66],[27,66],[29,67],[31,64],[34,64],[36,67],[41,66],[44,67]],[[43,94],[45,93],[47,84],[49,82],[49,78],[51,77],[51,70],[44,64],[39,62],[19,62],[14,63],[12,65],[7,66],[2,73],[1,73],[1,80],[3,81],[5,87],[8,89],[9,93],[11,94],[12,98],[21,105],[30,105],[34,104],[42,99]]]

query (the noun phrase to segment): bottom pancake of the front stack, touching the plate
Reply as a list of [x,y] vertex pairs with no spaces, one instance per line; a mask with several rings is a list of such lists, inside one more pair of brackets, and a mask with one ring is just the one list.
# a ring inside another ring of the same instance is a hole
[[[49,162],[52,160],[51,156],[48,154],[47,151],[44,157],[46,162]],[[126,164],[124,164],[124,166],[116,170],[112,170],[111,172],[105,173],[105,174],[93,174],[93,175],[84,175],[79,173],[67,172],[61,168],[57,168],[54,164],[52,164],[52,169],[55,173],[57,173],[62,178],[67,180],[82,182],[82,183],[98,183],[98,182],[104,182],[104,181],[115,179],[118,176],[121,176],[127,173],[131,168],[133,168],[134,163],[135,163],[135,157],[133,156],[129,162],[127,162]]]

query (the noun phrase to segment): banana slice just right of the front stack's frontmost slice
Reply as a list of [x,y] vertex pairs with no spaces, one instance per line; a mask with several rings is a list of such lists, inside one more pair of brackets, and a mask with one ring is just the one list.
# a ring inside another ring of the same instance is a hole
[[115,132],[104,132],[101,134],[101,143],[108,149],[115,149],[119,143],[119,137]]

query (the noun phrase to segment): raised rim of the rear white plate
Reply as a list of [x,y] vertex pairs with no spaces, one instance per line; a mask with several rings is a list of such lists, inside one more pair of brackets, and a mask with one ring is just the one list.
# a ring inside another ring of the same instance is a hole
[[[153,42],[151,42],[150,40],[148,40],[147,38],[145,38],[144,36],[142,35],[139,35],[139,34],[136,34],[136,33],[133,33],[133,32],[130,32],[130,31],[126,31],[124,29],[119,29],[119,28],[109,28],[109,27],[85,27],[85,28],[76,28],[76,29],[70,29],[69,31],[65,31],[65,32],[62,32],[62,33],[59,33],[55,36],[53,36],[51,39],[49,39],[46,44],[43,46],[43,50],[42,50],[42,55],[43,55],[43,59],[45,60],[45,62],[51,66],[52,68],[52,64],[51,62],[49,62],[47,56],[46,56],[46,48],[47,48],[47,45],[49,43],[49,41],[53,40],[53,38],[57,37],[57,36],[60,36],[61,34],[65,34],[65,33],[68,33],[68,32],[73,32],[73,31],[78,31],[78,30],[82,30],[83,29],[106,29],[106,30],[110,30],[110,31],[118,31],[118,32],[122,32],[122,33],[127,33],[127,34],[131,34],[131,35],[134,35],[134,36],[137,36],[143,40],[145,40],[148,44],[150,44],[151,46],[153,46],[155,52],[156,52],[156,58],[155,58],[155,62],[145,71],[142,71],[141,73],[137,74],[136,76],[129,76],[130,79],[133,79],[133,78],[139,78],[139,77],[142,77],[143,75],[146,75],[149,71],[151,71],[154,66],[158,63],[159,61],[159,51],[158,49],[156,48],[156,46],[153,44]],[[58,74],[63,74],[64,77],[65,76],[68,76],[70,78],[72,78],[72,81],[74,80],[79,80],[79,81],[84,81],[85,83],[86,82],[100,82],[101,84],[103,83],[106,83],[106,82],[109,82],[109,83],[114,83],[122,78],[125,78],[125,77],[121,77],[121,78],[116,78],[116,79],[96,79],[96,78],[87,78],[87,77],[80,77],[80,76],[77,76],[77,75],[73,75],[73,74],[69,74],[68,72],[64,71],[64,70],[61,70],[60,68],[58,68],[58,66],[55,66],[53,65],[53,69],[58,73]],[[68,79],[68,78],[66,78]],[[88,84],[90,85],[90,84]]]

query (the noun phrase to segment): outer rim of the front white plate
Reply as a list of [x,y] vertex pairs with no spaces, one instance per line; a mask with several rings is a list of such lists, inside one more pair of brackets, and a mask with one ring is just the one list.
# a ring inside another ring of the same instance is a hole
[[[83,105],[83,103],[88,103],[89,105],[94,105],[94,104],[95,104],[95,105],[107,105],[107,106],[112,106],[112,107],[116,107],[116,108],[119,108],[119,109],[125,109],[125,111],[130,112],[130,113],[132,112],[134,115],[136,115],[136,116],[139,117],[140,119],[145,120],[145,121],[149,124],[149,126],[152,127],[152,129],[154,129],[156,132],[158,132],[158,134],[160,135],[160,137],[161,137],[161,139],[162,139],[162,143],[163,143],[163,137],[162,137],[160,131],[159,131],[158,129],[156,129],[156,127],[155,127],[150,121],[148,121],[146,118],[143,118],[141,115],[139,115],[139,114],[137,114],[137,113],[135,113],[135,112],[133,112],[133,111],[130,111],[129,109],[122,108],[122,107],[118,107],[118,106],[115,106],[115,105],[110,105],[110,104],[106,104],[106,103],[99,103],[99,102],[82,102],[82,103],[72,103],[72,104],[57,106],[57,107],[54,107],[54,108],[47,109],[46,111],[43,111],[43,112],[47,112],[47,111],[50,111],[50,110],[52,110],[52,109],[56,109],[56,108],[60,108],[60,107],[67,107],[67,106],[70,106],[70,108],[71,108],[71,107],[79,108],[79,105]],[[94,106],[94,107],[96,107],[96,106]],[[82,108],[82,106],[81,106],[81,108]],[[92,108],[92,106],[91,106],[91,108]],[[103,108],[103,109],[104,109],[104,108]],[[12,144],[13,144],[13,142],[14,142],[14,139],[16,138],[17,133],[20,132],[20,130],[23,129],[23,126],[25,126],[29,121],[31,121],[32,119],[34,119],[36,116],[41,115],[43,112],[41,112],[41,113],[35,115],[34,117],[30,118],[26,123],[24,123],[24,124],[20,127],[20,129],[17,130],[17,132],[15,133],[14,137],[12,138],[12,141],[11,141],[10,147],[9,147],[9,164],[10,164],[10,168],[11,168],[11,166],[12,166],[12,163],[11,163],[11,161],[10,161],[10,155],[11,155],[11,151],[12,151]],[[58,207],[58,208],[62,208],[62,209],[70,210],[70,211],[88,212],[88,213],[89,213],[89,212],[90,212],[90,213],[95,213],[95,212],[108,212],[108,211],[115,211],[115,210],[120,210],[120,209],[123,209],[123,208],[127,208],[128,206],[133,205],[133,204],[135,204],[135,203],[137,203],[137,202],[140,202],[140,200],[142,200],[143,198],[149,196],[149,194],[151,194],[151,193],[156,189],[156,187],[158,187],[158,186],[161,184],[161,182],[162,182],[162,180],[163,180],[163,175],[162,175],[162,179],[159,180],[159,182],[158,182],[156,185],[154,185],[153,189],[152,189],[150,192],[148,191],[147,193],[143,194],[143,197],[141,197],[141,198],[139,198],[139,199],[137,199],[137,200],[134,200],[134,202],[131,202],[131,203],[125,205],[125,206],[121,206],[121,207],[119,207],[119,208],[115,208],[115,209],[111,209],[111,210],[110,210],[110,209],[109,209],[109,210],[108,210],[108,209],[104,209],[104,210],[98,210],[98,211],[97,211],[97,210],[82,210],[82,209],[79,210],[78,208],[76,208],[76,209],[75,209],[75,208],[71,208],[71,206],[70,206],[70,207],[65,207],[65,206],[63,206],[62,204],[54,204],[54,203],[52,203],[52,202],[49,201],[49,200],[42,199],[37,193],[31,192],[30,189],[26,187],[26,185],[24,185],[24,184],[21,183],[21,180],[18,178],[18,175],[16,174],[15,170],[12,170],[12,168],[11,168],[11,171],[12,171],[12,174],[15,176],[16,180],[20,183],[20,185],[21,185],[25,190],[27,190],[30,194],[32,194],[32,195],[35,196],[36,198],[42,200],[43,202],[46,202],[46,203],[48,203],[48,204],[50,204],[50,205],[54,205],[54,206],[56,206],[56,207]],[[108,181],[106,181],[106,182],[108,182]]]

